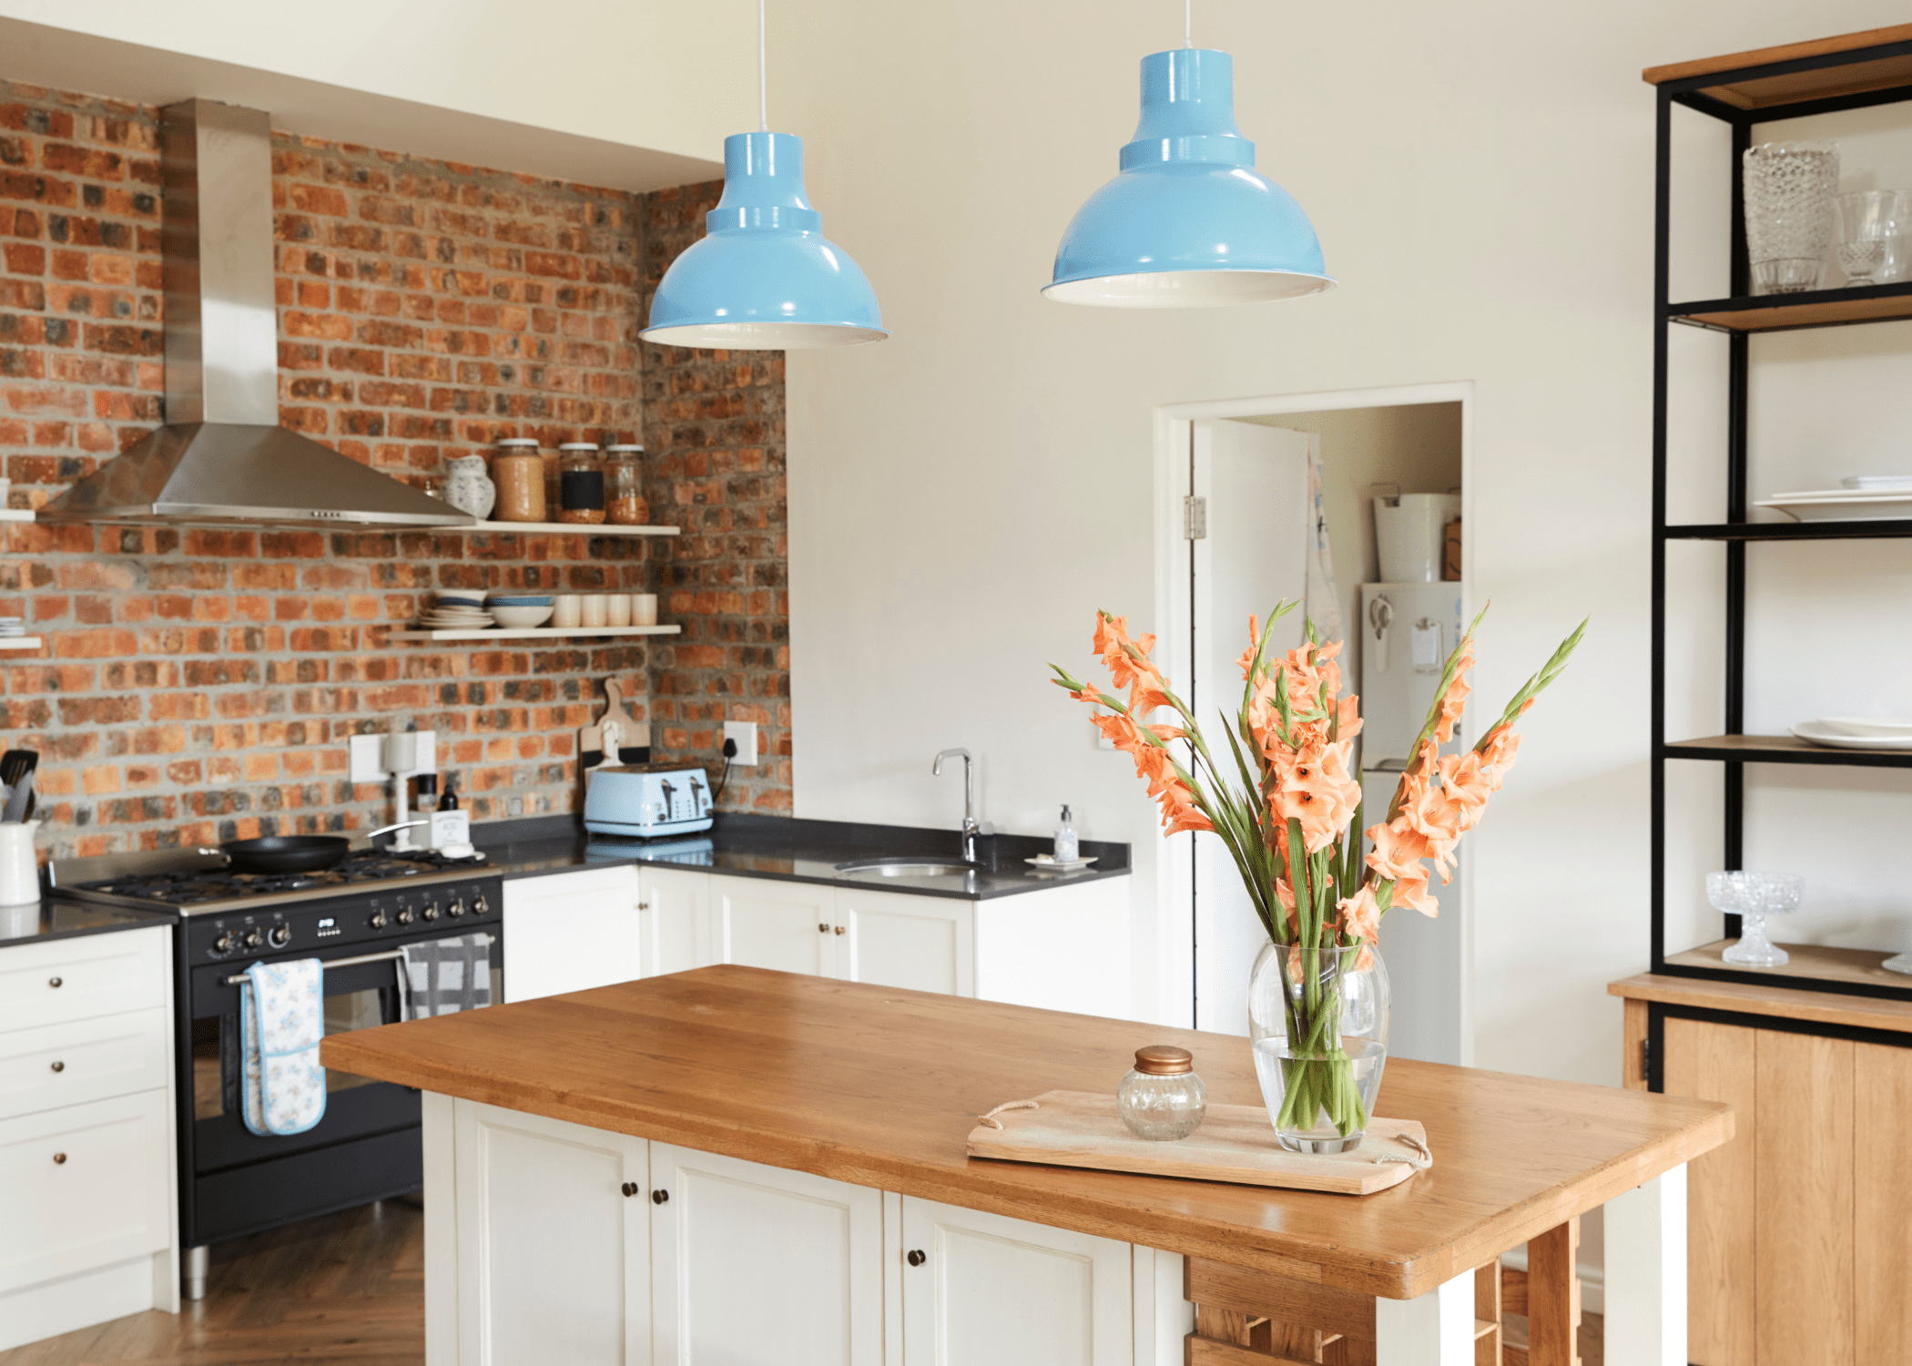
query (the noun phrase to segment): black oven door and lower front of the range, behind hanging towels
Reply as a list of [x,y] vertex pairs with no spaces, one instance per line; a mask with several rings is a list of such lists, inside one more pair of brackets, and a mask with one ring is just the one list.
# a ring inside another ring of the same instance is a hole
[[[495,926],[493,926],[495,932]],[[411,936],[430,939],[436,934]],[[396,941],[386,941],[396,947]],[[503,945],[491,945],[491,999],[499,999]],[[340,945],[335,957],[363,949]],[[321,955],[323,957],[323,955]],[[191,972],[193,1117],[182,1159],[187,1245],[239,1238],[291,1219],[352,1209],[415,1190],[423,1180],[419,1092],[348,1071],[325,1073],[325,1117],[302,1135],[254,1135],[241,1119],[239,987],[245,962]],[[398,1022],[398,960],[325,970],[325,1033]],[[189,1154],[189,1156],[187,1156]]]

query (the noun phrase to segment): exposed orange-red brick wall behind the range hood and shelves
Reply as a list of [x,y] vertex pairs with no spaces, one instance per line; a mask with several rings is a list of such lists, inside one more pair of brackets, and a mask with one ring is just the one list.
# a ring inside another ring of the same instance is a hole
[[[0,459],[13,507],[48,501],[161,421],[157,184],[155,109],[0,82]],[[275,136],[281,421],[411,482],[507,434],[642,438],[650,199]],[[669,367],[713,364],[679,352]],[[642,714],[667,666],[671,721],[707,723],[704,696],[728,698],[732,679],[702,656],[602,641],[438,649],[388,641],[386,628],[436,587],[627,587],[669,593],[665,620],[696,614],[686,639],[702,647],[759,629],[753,605],[679,603],[681,585],[774,578],[757,605],[780,650],[780,364],[757,388],[774,388],[755,400],[776,415],[774,509],[748,480],[660,465],[658,518],[686,509],[679,557],[621,538],[10,526],[0,614],[27,616],[48,647],[0,656],[0,738],[42,752],[42,849],[369,828],[388,798],[346,781],[344,737],[407,716],[440,733],[440,763],[478,819],[566,811],[576,729],[606,675]],[[667,421],[654,446],[767,463],[767,438],[732,450],[744,438],[727,417]],[[730,497],[738,515],[711,505]],[[727,566],[730,541],[709,536],[730,522],[771,528],[774,564]],[[780,656],[776,670],[738,687],[771,721],[788,691]],[[658,738],[717,748],[696,725]],[[769,781],[736,798],[788,809],[788,758],[780,800],[771,767],[757,773]]]

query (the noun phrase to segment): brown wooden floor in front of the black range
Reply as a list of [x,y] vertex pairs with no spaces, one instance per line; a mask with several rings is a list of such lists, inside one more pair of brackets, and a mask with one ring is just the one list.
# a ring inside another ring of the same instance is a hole
[[212,1249],[206,1297],[0,1353],[0,1366],[419,1366],[424,1213],[386,1200]]

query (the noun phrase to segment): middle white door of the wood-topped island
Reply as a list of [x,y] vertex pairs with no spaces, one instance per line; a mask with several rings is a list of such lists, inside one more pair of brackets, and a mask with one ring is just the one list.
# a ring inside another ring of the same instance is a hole
[[650,1175],[658,1366],[881,1364],[881,1192],[663,1142]]

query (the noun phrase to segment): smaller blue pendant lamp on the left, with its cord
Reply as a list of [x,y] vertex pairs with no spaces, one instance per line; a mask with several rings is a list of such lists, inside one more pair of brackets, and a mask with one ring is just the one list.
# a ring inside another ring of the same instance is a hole
[[663,272],[639,333],[663,346],[801,350],[883,341],[876,291],[822,235],[803,195],[803,138],[771,132],[757,0],[757,94],[763,128],[723,140],[723,199],[704,237]]

